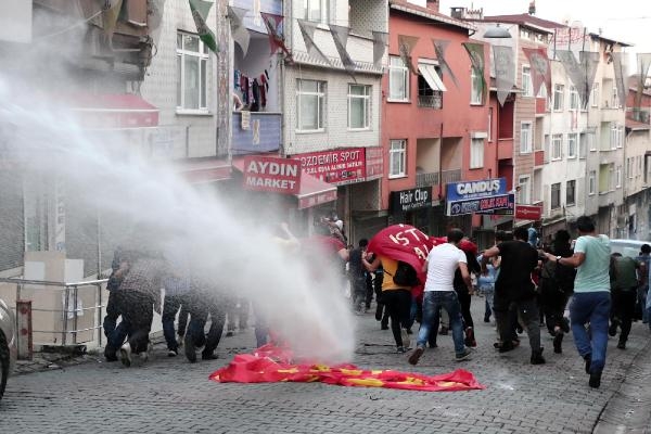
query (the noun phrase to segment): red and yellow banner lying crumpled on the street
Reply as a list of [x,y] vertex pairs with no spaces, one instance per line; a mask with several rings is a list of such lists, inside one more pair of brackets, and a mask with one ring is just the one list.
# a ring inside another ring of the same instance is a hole
[[342,386],[403,388],[421,392],[484,390],[472,372],[457,369],[439,375],[421,375],[392,370],[363,370],[355,365],[293,363],[293,354],[265,345],[253,354],[237,355],[209,379],[218,383],[321,382]]

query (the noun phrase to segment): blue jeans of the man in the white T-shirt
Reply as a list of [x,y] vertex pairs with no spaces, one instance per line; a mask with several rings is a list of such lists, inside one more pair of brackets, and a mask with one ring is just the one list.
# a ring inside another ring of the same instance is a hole
[[461,321],[461,305],[456,291],[427,291],[423,295],[423,322],[418,331],[417,345],[424,347],[430,336],[430,329],[438,309],[444,308],[450,318],[449,328],[452,330],[455,353],[463,354],[463,324]]

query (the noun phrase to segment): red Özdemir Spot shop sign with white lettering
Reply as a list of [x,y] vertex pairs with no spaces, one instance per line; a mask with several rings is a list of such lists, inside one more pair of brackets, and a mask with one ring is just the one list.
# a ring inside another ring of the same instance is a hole
[[292,156],[301,168],[322,181],[344,186],[367,180],[366,148],[347,148]]

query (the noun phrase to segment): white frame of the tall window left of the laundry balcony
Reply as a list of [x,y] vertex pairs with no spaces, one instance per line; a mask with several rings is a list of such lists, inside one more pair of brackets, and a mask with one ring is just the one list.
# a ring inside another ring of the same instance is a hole
[[[187,48],[187,40],[195,39],[197,42],[197,50],[190,50]],[[190,58],[191,60],[196,59],[199,62],[197,66],[197,77],[195,77],[197,81],[196,86],[196,107],[187,106],[186,101],[186,87],[188,85],[188,80],[191,77],[187,77],[186,69],[186,61]],[[203,41],[199,38],[197,35],[189,34],[186,31],[177,31],[177,48],[176,48],[176,60],[177,60],[177,113],[188,113],[188,114],[207,114],[208,113],[208,75],[209,72],[209,54],[208,47],[203,43]]]

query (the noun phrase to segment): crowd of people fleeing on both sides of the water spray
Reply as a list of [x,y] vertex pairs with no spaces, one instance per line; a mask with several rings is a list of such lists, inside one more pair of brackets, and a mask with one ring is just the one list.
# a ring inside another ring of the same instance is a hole
[[[470,309],[475,293],[484,298],[484,322],[495,318],[493,346],[497,352],[513,350],[526,332],[529,362],[542,365],[541,329],[553,337],[557,354],[562,354],[563,339],[572,332],[591,387],[600,386],[609,335],[618,333],[617,348],[625,349],[635,320],[651,328],[651,297],[647,298],[651,246],[644,244],[636,258],[611,254],[608,237],[598,234],[586,216],[576,220],[576,240],[559,230],[545,246],[539,245],[535,230],[520,227],[513,232],[497,231],[495,245],[478,252],[472,240],[452,228],[422,258],[420,270],[370,251],[367,239],[347,246],[343,224],[336,218],[323,218],[320,224],[319,237],[334,246],[329,264],[348,281],[352,311],[366,314],[375,298],[375,319],[382,330],[391,329],[398,353],[409,350],[416,333],[408,356],[411,365],[419,362],[425,348],[437,346],[439,334],[449,331],[455,359],[471,357],[477,346]],[[301,248],[286,225],[281,225],[277,240],[283,248]],[[424,279],[418,279],[418,273]],[[161,288],[165,290],[163,303]],[[217,357],[227,318],[227,335],[234,332],[235,318],[240,329],[248,327],[246,299],[196,281],[155,252],[116,251],[107,289],[104,355],[125,366],[131,365],[133,355],[143,360],[149,357],[153,311],[162,314],[168,355],[177,356],[184,347],[190,362],[197,360],[200,348],[202,359]],[[416,323],[418,330],[413,330]],[[255,318],[255,332],[258,346],[268,342],[269,324],[261,316]]]

